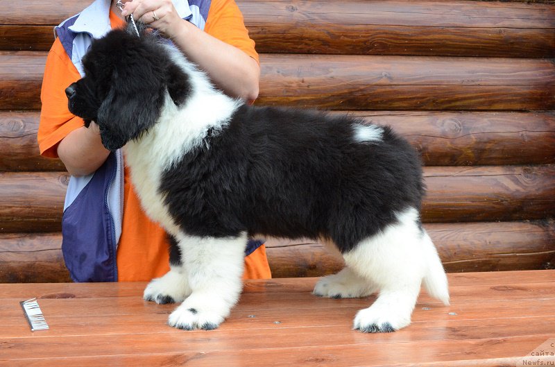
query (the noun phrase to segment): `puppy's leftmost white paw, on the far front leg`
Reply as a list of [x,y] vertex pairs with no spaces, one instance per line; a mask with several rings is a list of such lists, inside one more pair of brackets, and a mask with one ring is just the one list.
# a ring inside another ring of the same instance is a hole
[[191,289],[183,266],[171,265],[170,271],[160,278],[151,280],[144,290],[143,298],[158,305],[182,302]]

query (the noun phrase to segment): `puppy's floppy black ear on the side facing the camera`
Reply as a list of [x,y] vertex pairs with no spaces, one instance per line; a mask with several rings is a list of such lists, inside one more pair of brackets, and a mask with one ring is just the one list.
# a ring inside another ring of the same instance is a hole
[[130,78],[137,76],[121,75],[114,70],[110,91],[99,108],[96,123],[99,124],[102,144],[110,151],[139,137],[154,126],[160,116],[163,85],[154,76],[145,80],[146,83]]

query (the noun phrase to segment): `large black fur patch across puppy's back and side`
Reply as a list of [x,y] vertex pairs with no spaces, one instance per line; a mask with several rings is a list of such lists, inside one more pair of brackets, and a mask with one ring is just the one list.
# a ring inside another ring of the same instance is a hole
[[420,209],[420,159],[384,127],[355,142],[361,121],[323,112],[242,106],[222,133],[187,153],[160,190],[190,234],[328,237],[342,252]]

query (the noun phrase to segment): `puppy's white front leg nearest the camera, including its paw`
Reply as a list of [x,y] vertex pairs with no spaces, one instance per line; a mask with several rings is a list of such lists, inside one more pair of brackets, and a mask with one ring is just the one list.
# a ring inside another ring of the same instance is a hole
[[237,238],[179,239],[191,295],[169,316],[178,329],[212,330],[229,316],[243,287],[246,234]]

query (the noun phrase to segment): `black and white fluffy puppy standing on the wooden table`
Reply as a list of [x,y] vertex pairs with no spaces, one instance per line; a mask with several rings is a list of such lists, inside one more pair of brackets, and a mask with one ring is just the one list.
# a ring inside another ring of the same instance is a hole
[[[182,304],[180,329],[213,329],[241,293],[249,237],[311,238],[345,268],[314,294],[377,300],[354,328],[409,325],[422,281],[449,302],[447,278],[420,223],[418,154],[388,127],[314,110],[252,107],[215,89],[172,46],[112,31],[93,42],[69,110],[124,147],[144,210],[173,239],[171,271],[146,300]],[[182,256],[180,256],[182,255]]]

